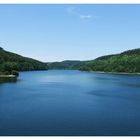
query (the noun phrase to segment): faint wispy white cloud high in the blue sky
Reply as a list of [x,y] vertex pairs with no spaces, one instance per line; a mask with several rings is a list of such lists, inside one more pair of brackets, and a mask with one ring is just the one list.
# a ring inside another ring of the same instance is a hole
[[71,15],[75,15],[78,18],[80,18],[81,20],[89,20],[89,19],[93,19],[93,15],[91,14],[83,14],[77,11],[76,7],[69,7],[67,8],[67,13],[71,14]]

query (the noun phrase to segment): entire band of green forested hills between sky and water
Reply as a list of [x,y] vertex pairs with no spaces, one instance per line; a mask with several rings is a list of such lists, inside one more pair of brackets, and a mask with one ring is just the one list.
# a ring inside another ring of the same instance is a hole
[[74,69],[82,71],[140,73],[140,48],[120,54],[101,56],[90,61],[62,61],[43,63],[32,58],[5,51],[0,47],[0,74],[16,71]]

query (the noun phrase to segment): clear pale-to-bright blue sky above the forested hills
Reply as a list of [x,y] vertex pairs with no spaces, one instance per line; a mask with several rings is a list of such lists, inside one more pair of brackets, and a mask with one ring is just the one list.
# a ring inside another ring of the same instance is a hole
[[43,62],[140,48],[140,5],[2,5],[0,46]]

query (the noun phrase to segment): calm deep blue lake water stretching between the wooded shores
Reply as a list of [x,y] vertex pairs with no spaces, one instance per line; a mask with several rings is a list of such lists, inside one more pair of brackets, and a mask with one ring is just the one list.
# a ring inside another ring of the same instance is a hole
[[140,76],[21,72],[0,84],[0,135],[140,135]]

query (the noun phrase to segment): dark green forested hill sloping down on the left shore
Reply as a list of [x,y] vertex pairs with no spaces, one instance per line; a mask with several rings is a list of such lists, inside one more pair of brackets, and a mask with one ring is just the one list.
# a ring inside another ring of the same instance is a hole
[[0,72],[8,73],[12,70],[29,71],[29,70],[47,70],[47,64],[20,56],[18,54],[5,51],[0,47]]

